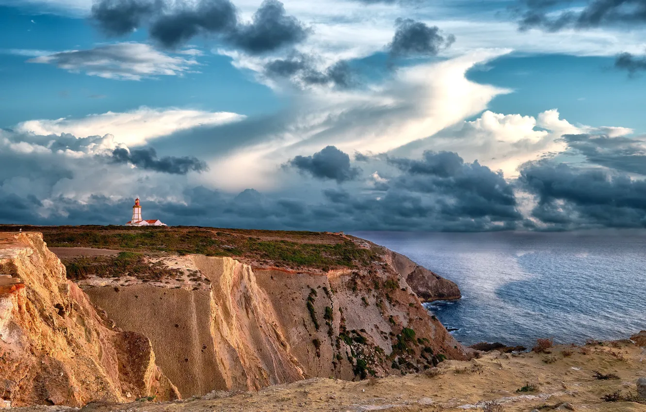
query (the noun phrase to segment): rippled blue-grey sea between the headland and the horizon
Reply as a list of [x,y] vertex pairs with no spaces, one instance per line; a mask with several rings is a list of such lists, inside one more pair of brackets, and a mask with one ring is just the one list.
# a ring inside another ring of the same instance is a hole
[[461,300],[427,307],[464,344],[646,329],[646,231],[353,234],[457,283]]

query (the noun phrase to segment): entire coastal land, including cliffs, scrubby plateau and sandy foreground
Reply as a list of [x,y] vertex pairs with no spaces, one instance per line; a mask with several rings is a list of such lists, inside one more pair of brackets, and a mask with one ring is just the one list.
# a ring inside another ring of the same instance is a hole
[[343,233],[25,229],[0,227],[6,407],[646,411],[643,336],[464,347],[422,306],[455,283]]

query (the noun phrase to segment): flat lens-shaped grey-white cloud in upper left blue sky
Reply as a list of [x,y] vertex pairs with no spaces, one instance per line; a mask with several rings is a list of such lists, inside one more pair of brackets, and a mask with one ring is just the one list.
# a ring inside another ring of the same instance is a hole
[[169,56],[143,43],[117,43],[89,50],[57,52],[27,61],[56,65],[68,72],[85,72],[89,76],[119,80],[182,76],[198,64],[194,59]]

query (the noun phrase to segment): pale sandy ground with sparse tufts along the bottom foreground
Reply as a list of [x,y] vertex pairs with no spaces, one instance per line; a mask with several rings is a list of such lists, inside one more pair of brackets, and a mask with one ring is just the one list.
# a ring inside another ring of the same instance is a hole
[[[211,393],[167,403],[96,403],[81,411],[482,411],[479,402],[497,400],[505,412],[646,412],[645,404],[601,399],[616,391],[624,396],[636,393],[637,378],[646,375],[643,348],[625,341],[586,345],[584,349],[559,346],[548,351],[519,355],[494,351],[470,362],[450,360],[439,365],[435,376],[388,376],[361,382],[315,378],[256,393]],[[617,378],[599,380],[594,378],[595,371]],[[536,389],[517,392],[528,384]],[[563,406],[566,402],[574,409]],[[45,407],[22,408],[20,412],[37,410],[45,411]]]

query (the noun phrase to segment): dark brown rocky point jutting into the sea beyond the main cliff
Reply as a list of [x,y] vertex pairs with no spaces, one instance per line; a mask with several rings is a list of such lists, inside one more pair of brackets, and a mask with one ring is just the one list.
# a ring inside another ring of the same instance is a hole
[[462,297],[455,283],[418,265],[403,254],[388,249],[385,249],[384,254],[388,262],[406,279],[406,283],[422,301],[456,300]]

